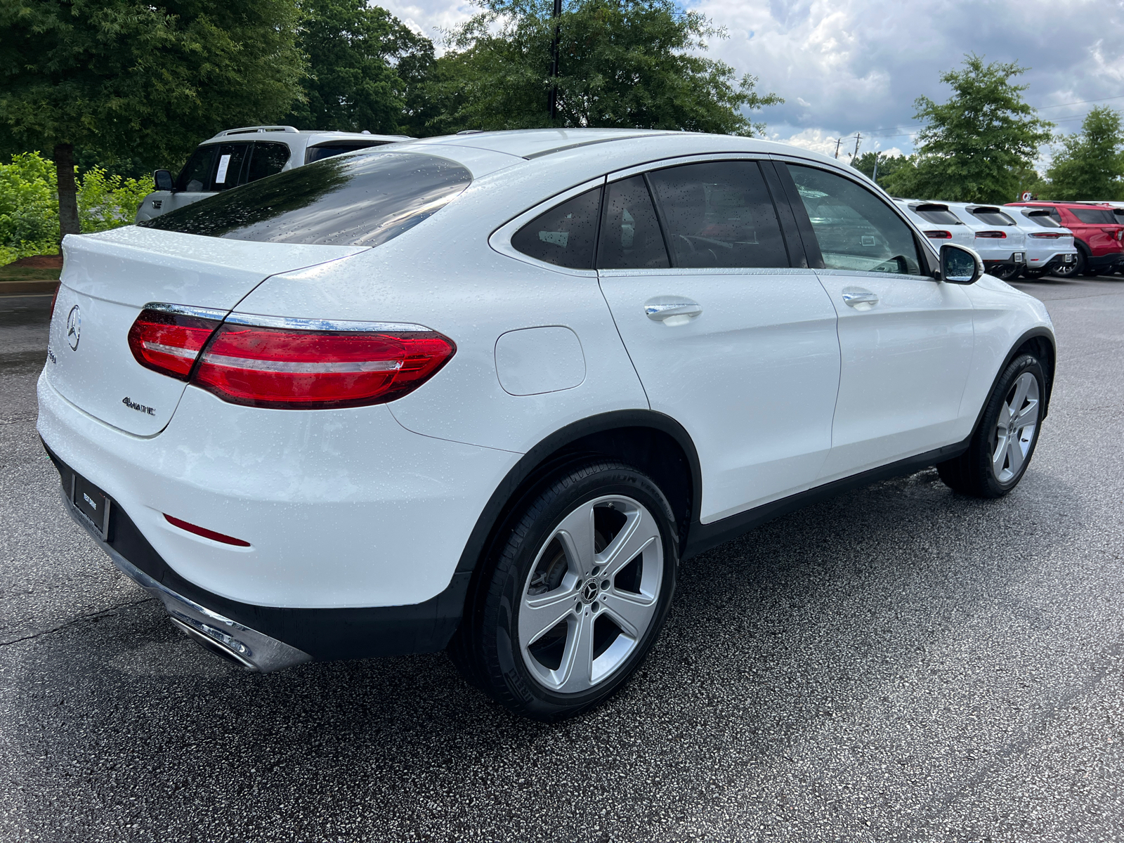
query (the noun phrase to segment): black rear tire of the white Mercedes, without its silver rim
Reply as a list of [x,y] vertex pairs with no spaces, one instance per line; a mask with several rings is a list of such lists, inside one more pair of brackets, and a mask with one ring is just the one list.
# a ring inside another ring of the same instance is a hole
[[[527,716],[544,720],[578,714],[608,698],[628,680],[660,635],[671,606],[679,566],[679,547],[671,507],[651,479],[635,469],[617,463],[595,463],[577,472],[571,470],[564,473],[568,478],[572,478],[574,473],[583,475],[561,489],[552,484],[527,507],[527,515],[516,525],[496,564],[492,587],[486,597],[486,623],[481,629],[486,670],[492,676],[498,670],[510,696],[505,701]],[[628,661],[610,678],[581,694],[558,694],[541,685],[523,661],[517,613],[523,600],[524,584],[538,551],[562,518],[584,502],[610,495],[638,501],[660,525],[663,577],[655,615]]]

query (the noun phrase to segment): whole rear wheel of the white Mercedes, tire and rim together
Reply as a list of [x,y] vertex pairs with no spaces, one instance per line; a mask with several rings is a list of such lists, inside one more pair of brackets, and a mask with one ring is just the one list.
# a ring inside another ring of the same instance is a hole
[[506,525],[450,656],[516,714],[572,717],[624,686],[659,637],[679,568],[674,516],[651,478],[591,460],[546,478]]

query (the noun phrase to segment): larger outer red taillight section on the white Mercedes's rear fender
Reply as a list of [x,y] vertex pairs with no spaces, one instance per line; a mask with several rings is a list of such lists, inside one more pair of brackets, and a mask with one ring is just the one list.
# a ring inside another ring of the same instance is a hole
[[215,333],[191,383],[251,407],[384,404],[420,387],[456,353],[452,339],[419,325],[269,319],[282,325],[274,327],[243,318],[254,319],[233,317]]

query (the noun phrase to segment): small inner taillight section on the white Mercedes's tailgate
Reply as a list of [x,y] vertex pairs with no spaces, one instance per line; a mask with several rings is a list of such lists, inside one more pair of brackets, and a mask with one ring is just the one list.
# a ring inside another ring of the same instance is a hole
[[145,369],[185,381],[224,316],[225,310],[147,305],[129,328],[129,348]]

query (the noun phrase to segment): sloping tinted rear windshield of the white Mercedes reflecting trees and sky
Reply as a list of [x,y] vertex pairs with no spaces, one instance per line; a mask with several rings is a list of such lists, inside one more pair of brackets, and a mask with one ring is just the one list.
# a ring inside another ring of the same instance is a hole
[[463,166],[434,155],[343,155],[137,225],[263,243],[378,246],[433,216],[471,181]]

